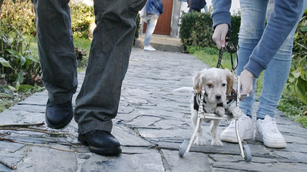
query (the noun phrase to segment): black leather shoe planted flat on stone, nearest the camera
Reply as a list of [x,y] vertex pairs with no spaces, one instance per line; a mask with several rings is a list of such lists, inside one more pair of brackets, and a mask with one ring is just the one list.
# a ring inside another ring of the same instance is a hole
[[118,140],[107,131],[94,130],[79,134],[78,141],[88,144],[91,152],[103,155],[116,155],[122,153]]

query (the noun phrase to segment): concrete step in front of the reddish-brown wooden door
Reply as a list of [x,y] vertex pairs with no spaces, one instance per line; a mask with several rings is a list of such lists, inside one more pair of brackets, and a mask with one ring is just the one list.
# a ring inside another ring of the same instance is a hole
[[[135,47],[144,48],[145,35],[140,36],[135,41]],[[150,45],[156,50],[182,52],[184,47],[180,42],[180,39],[170,38],[166,36],[152,35],[150,39]]]

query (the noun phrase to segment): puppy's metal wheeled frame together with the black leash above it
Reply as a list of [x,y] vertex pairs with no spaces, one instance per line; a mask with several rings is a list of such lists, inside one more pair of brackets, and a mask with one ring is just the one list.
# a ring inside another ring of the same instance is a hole
[[[236,106],[239,107],[239,105],[240,105],[240,98],[248,97],[249,94],[241,94],[241,92],[240,92],[240,86],[241,86],[240,76],[237,76],[237,78],[235,77],[235,69],[236,69],[236,67],[234,67],[234,63],[233,63],[233,60],[232,60],[232,53],[236,53],[236,59],[237,59],[237,50],[239,49],[239,46],[238,45],[234,45],[229,39],[226,39],[226,42],[229,42],[229,44],[226,46],[226,50],[231,55],[232,73],[234,75],[235,82],[237,82],[237,90],[235,91],[236,94],[237,94],[236,95],[237,96],[236,97],[237,98],[236,99],[236,102],[237,102]],[[224,51],[224,49],[222,48],[220,50],[219,60],[218,60],[216,68],[220,68],[220,66],[221,66],[221,60],[222,60],[222,56],[223,56],[223,51]],[[192,91],[192,93],[196,93],[196,91]],[[181,144],[181,146],[179,148],[179,152],[178,152],[178,154],[180,156],[183,156],[185,153],[189,152],[190,147],[191,147],[191,145],[192,145],[192,143],[194,141],[194,138],[196,136],[198,127],[199,127],[199,125],[201,125],[200,119],[207,118],[207,119],[219,119],[219,120],[226,120],[226,121],[229,121],[229,120],[233,119],[232,113],[229,113],[229,112],[228,113],[226,112],[226,114],[222,115],[222,116],[217,115],[215,113],[206,113],[206,112],[204,112],[204,110],[203,110],[203,100],[204,100],[204,96],[205,96],[205,91],[202,90],[200,95],[201,95],[201,98],[200,98],[200,104],[199,104],[199,109],[198,109],[198,117],[197,117],[196,127],[194,129],[192,137],[190,138],[190,141],[184,140],[184,142]],[[242,156],[242,158],[245,159],[246,162],[250,162],[252,160],[252,153],[251,153],[251,150],[250,150],[248,145],[242,145],[241,137],[240,137],[240,133],[239,133],[239,118],[236,118],[236,134],[237,134],[237,139],[238,139],[238,143],[239,143],[239,147],[240,147],[241,156]]]

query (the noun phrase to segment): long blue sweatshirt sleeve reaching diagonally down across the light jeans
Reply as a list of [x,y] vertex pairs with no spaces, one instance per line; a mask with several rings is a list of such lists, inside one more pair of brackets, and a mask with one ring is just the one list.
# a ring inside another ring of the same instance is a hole
[[259,77],[301,17],[302,8],[303,0],[275,0],[274,11],[244,69]]

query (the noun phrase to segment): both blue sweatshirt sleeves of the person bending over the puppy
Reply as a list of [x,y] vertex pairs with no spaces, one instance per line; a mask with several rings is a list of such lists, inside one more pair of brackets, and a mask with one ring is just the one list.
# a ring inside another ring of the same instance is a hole
[[[228,24],[230,28],[231,0],[212,0],[212,6],[213,29],[221,23]],[[305,7],[306,4],[303,4],[303,0],[275,0],[274,11],[272,11],[263,35],[244,69],[252,72],[257,78],[259,77],[261,71],[268,67],[269,62],[294,28],[301,17],[302,8]]]

